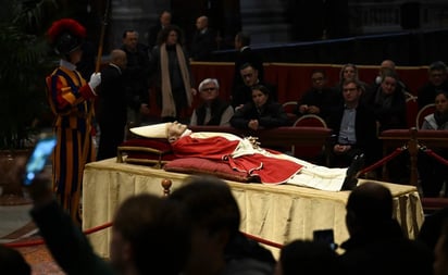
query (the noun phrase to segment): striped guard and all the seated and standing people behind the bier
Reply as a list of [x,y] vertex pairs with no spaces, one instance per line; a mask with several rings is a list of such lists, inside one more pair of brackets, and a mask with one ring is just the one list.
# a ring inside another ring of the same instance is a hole
[[[197,18],[197,33],[189,39],[188,47],[182,28],[171,21],[171,12],[163,11],[160,22],[148,30],[148,45],[141,42],[138,32],[125,29],[122,46],[110,52],[109,63],[94,72],[88,82],[76,71],[86,29],[67,18],[49,29],[51,46],[61,57],[60,66],[47,78],[59,138],[57,158],[53,158],[53,188],[64,208],[77,220],[80,220],[84,165],[96,158],[115,157],[117,146],[132,137],[128,129],[146,124],[150,107],[154,105],[149,102],[150,92],[154,93],[160,109],[158,122],[183,121],[188,125],[221,125],[254,132],[290,125],[288,114],[278,102],[276,85],[264,79],[263,59],[251,49],[250,35],[235,35],[237,51],[232,91],[229,98],[223,98],[219,92],[220,79],[211,75],[197,85],[190,70],[190,61],[207,60],[214,50],[216,34],[209,26],[208,17]],[[382,158],[378,134],[408,127],[406,100],[410,92],[391,60],[381,63],[378,75],[372,82],[360,79],[358,67],[352,63],[341,66],[333,87],[323,70],[313,71],[310,80],[310,89],[297,98],[295,115],[319,115],[332,129],[329,150],[321,152],[326,157],[316,158],[328,162],[318,164],[347,167],[361,155],[365,165],[373,164]],[[439,96],[446,91],[447,83],[446,65],[441,61],[431,64],[428,83],[416,92],[419,108],[432,102],[437,105],[424,128],[447,128],[446,98]],[[198,93],[201,102],[194,107]],[[188,114],[190,110],[192,115]],[[100,136],[98,153],[90,138],[95,129],[99,129]],[[445,151],[439,153],[447,155]],[[391,182],[406,183],[407,165],[401,161],[387,165],[393,172],[405,172],[390,173]],[[436,175],[422,171],[424,196],[437,196],[447,179],[443,168],[431,171]],[[430,184],[434,180],[438,183],[436,188]]]

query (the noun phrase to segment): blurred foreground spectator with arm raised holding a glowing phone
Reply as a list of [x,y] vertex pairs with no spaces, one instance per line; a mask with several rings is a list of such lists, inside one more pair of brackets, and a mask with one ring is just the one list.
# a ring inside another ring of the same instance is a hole
[[[22,180],[26,160],[15,161],[10,176]],[[126,198],[114,214],[110,259],[104,261],[54,200],[50,180],[43,171],[27,187],[34,204],[30,215],[66,274],[178,275],[184,270],[191,243],[184,205],[150,193]]]

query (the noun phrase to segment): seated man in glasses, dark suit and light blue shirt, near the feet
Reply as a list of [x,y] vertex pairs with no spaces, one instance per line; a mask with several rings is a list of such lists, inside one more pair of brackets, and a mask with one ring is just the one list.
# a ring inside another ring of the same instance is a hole
[[381,152],[373,112],[360,101],[362,86],[348,79],[343,85],[344,101],[332,110],[327,125],[333,129],[329,146],[331,166],[348,166],[354,157],[364,154],[372,164]]

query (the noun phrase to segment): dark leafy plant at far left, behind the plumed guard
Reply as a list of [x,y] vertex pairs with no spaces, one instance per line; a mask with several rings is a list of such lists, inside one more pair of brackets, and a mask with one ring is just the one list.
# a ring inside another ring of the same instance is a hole
[[0,149],[24,149],[48,112],[45,76],[53,66],[45,27],[55,0],[8,1],[0,11]]

